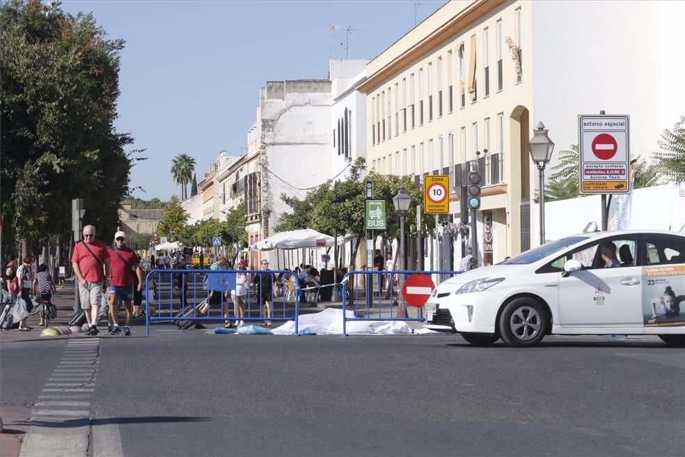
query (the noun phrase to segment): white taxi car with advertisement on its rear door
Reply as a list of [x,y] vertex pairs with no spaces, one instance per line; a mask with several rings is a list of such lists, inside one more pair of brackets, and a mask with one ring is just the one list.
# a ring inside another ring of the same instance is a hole
[[[685,346],[685,235],[613,231],[569,236],[439,284],[425,325],[485,346],[534,346],[546,334],[658,335]],[[437,319],[435,319],[437,320]]]

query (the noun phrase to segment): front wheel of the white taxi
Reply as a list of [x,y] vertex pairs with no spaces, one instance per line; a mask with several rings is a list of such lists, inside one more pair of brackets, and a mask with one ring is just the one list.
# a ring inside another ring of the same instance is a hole
[[547,332],[546,311],[533,298],[521,297],[504,308],[499,333],[507,346],[526,347],[540,343]]

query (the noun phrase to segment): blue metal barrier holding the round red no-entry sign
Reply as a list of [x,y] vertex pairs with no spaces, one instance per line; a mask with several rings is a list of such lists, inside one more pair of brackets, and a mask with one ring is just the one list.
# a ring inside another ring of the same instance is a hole
[[[407,280],[407,278],[413,274],[423,274],[428,277],[432,277],[432,281],[434,282],[435,286],[438,286],[442,281],[445,281],[446,279],[449,279],[450,277],[454,276],[455,274],[462,273],[461,271],[443,271],[443,270],[438,270],[438,271],[412,271],[412,270],[365,270],[365,271],[352,271],[348,272],[345,274],[343,277],[343,281],[340,282],[340,286],[343,286],[343,336],[347,336],[347,321],[348,320],[408,320],[408,321],[413,321],[413,322],[423,322],[423,307],[421,308],[416,308],[416,317],[412,318],[409,317],[409,313],[407,312],[407,302],[404,301],[404,297],[402,296],[402,284],[404,281]],[[374,281],[374,275],[378,276],[378,289],[377,291],[373,290],[373,281]],[[388,282],[388,291],[384,292],[383,291],[383,280],[387,279],[387,276],[391,275],[397,278],[397,287],[395,288],[394,281],[389,281]],[[357,280],[360,278],[364,278],[364,286],[360,287]],[[371,281],[371,284],[370,282]],[[347,286],[351,282],[352,286]],[[345,291],[347,290],[348,287],[352,288],[352,291],[350,291],[350,297],[347,297],[347,293]],[[368,291],[370,290],[373,291],[371,294],[368,294]],[[365,296],[362,298],[362,300],[365,302],[365,307],[360,310],[359,308],[359,295],[360,291],[363,291]],[[348,318],[347,317],[347,300],[352,300],[352,303],[354,304],[354,318]],[[386,301],[384,304],[383,301]],[[397,302],[397,304],[395,304]],[[376,305],[376,306],[375,306]],[[386,309],[390,310],[390,316],[392,316],[393,313],[393,307],[397,309],[397,314],[400,313],[400,309],[404,309],[404,316],[402,317],[388,317],[384,318],[383,316],[383,307],[386,306]],[[378,311],[378,316],[373,317],[372,313],[375,314],[375,311]],[[365,317],[360,317],[360,311],[365,311]]]

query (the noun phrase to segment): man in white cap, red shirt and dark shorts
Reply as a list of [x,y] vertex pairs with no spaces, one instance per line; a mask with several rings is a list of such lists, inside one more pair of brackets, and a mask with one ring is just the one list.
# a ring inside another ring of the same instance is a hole
[[[133,284],[134,274],[138,277],[138,291],[143,290],[143,270],[139,265],[138,256],[126,245],[126,233],[118,231],[114,234],[114,245],[109,249],[111,263],[111,285],[109,286],[109,313],[112,317],[112,328],[109,333],[121,333],[117,316],[117,304],[123,300],[126,309],[126,325],[124,334],[131,334],[131,315],[133,313]],[[135,272],[134,272],[135,271]]]

